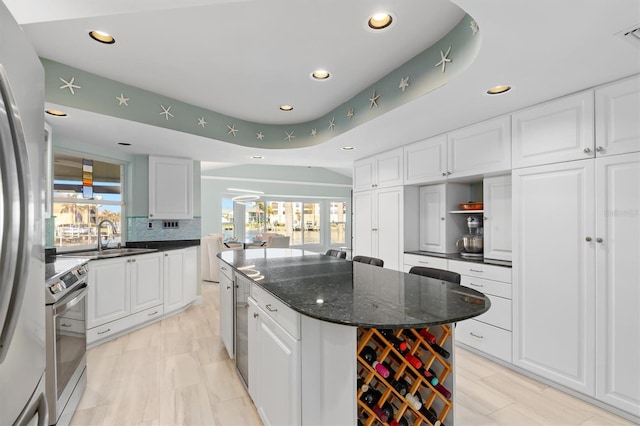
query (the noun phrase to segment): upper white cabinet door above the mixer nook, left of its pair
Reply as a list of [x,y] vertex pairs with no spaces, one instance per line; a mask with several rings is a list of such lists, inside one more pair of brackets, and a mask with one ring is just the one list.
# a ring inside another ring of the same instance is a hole
[[447,135],[404,147],[404,184],[438,182],[447,176]]

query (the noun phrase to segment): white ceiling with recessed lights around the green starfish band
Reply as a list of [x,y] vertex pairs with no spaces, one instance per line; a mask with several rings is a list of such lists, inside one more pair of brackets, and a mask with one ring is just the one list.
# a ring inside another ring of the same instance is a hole
[[[322,116],[425,50],[465,12],[477,21],[482,46],[462,76],[315,147],[247,148],[68,107],[69,119],[48,120],[54,134],[87,144],[125,149],[115,143],[126,140],[131,152],[223,165],[259,161],[350,174],[357,158],[640,72],[640,43],[617,35],[640,26],[638,0],[4,2],[42,57],[275,124]],[[365,20],[379,9],[391,10],[396,21],[374,34]],[[91,29],[113,33],[117,43],[91,42]],[[154,41],[149,31],[162,35]],[[329,69],[332,78],[312,81],[315,68]],[[497,84],[513,90],[485,94]],[[279,111],[283,103],[294,111]],[[345,145],[356,149],[341,151]]]

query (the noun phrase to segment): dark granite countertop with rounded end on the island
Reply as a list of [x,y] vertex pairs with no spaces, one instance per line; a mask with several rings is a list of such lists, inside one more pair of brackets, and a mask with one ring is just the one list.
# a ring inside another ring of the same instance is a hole
[[[295,249],[232,250],[222,261],[301,314],[332,323],[421,328],[486,312],[482,293],[457,284]],[[259,271],[256,277],[255,271]]]

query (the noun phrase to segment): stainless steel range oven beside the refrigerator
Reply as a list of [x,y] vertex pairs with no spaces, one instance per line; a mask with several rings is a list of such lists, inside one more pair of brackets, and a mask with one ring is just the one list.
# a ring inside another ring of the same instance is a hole
[[87,387],[86,263],[58,258],[47,265],[45,382],[50,425],[69,424]]

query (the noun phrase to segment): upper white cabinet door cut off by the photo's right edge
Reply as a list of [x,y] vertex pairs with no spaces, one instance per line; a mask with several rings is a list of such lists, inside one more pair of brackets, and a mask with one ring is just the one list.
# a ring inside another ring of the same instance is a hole
[[640,75],[596,89],[596,152],[640,151]]

